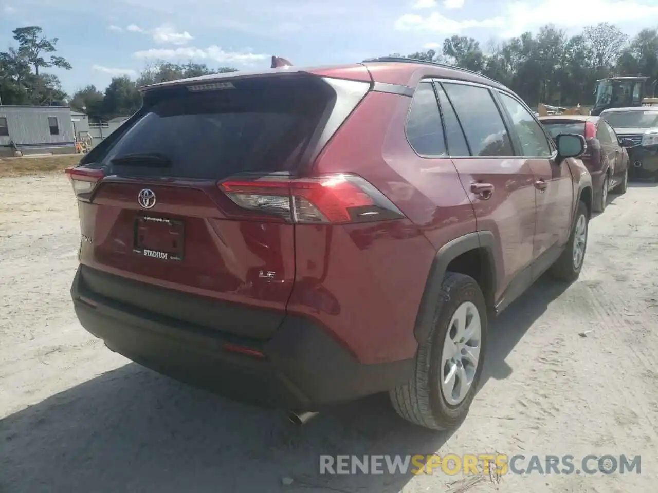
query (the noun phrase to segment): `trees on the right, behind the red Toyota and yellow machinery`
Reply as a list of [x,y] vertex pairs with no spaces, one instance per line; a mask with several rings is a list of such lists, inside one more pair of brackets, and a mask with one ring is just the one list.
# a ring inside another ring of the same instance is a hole
[[[442,50],[410,58],[447,62],[480,72],[510,87],[530,106],[592,105],[597,80],[609,76],[658,79],[658,30],[644,29],[630,38],[614,24],[588,26],[580,34],[547,24],[486,49],[472,37],[445,38]],[[655,86],[654,86],[655,87]],[[651,92],[651,89],[649,89]]]

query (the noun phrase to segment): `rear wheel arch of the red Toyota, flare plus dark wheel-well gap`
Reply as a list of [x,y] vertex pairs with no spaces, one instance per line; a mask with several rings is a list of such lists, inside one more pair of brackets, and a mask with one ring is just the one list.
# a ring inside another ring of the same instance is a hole
[[501,266],[496,258],[497,244],[491,231],[476,231],[457,237],[439,248],[425,283],[418,307],[414,335],[418,342],[428,339],[447,272],[468,275],[477,281],[487,308],[492,309],[496,287],[501,279]]

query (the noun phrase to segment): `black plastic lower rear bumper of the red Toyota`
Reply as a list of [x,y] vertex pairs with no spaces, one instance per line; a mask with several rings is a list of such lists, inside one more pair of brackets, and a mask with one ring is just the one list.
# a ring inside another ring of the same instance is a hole
[[[274,337],[257,340],[145,312],[89,290],[82,267],[71,296],[82,326],[111,350],[195,387],[260,406],[318,410],[390,390],[414,371],[414,360],[361,364],[326,329],[301,317],[286,316]],[[225,344],[265,357],[236,354]]]

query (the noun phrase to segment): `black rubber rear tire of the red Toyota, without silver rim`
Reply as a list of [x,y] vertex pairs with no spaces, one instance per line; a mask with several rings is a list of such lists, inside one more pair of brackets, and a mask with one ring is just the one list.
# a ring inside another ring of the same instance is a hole
[[[465,302],[472,303],[480,316],[480,356],[465,398],[453,406],[445,399],[440,385],[443,345],[453,314]],[[415,377],[390,391],[395,411],[407,421],[432,430],[449,429],[461,423],[477,392],[486,342],[487,310],[480,286],[468,275],[446,273],[432,331],[428,340],[418,346]]]

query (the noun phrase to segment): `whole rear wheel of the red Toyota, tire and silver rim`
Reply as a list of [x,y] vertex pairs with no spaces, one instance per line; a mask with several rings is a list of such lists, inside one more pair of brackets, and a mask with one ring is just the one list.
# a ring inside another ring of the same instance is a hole
[[390,392],[395,411],[429,429],[459,424],[477,392],[486,340],[486,304],[478,283],[447,273],[434,327],[418,346],[415,376]]

